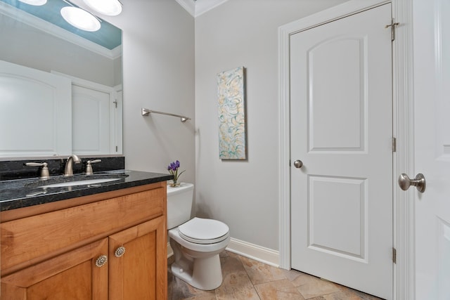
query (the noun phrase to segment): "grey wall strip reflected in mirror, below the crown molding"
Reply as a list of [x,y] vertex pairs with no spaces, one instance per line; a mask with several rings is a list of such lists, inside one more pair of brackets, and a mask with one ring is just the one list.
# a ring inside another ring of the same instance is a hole
[[0,28],[0,60],[45,72],[53,70],[106,86],[122,83],[122,58],[105,58],[3,14],[0,14]]

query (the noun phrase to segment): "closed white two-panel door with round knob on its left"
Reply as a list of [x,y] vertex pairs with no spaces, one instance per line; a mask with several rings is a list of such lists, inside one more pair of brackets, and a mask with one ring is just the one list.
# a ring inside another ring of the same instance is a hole
[[385,4],[290,37],[292,268],[392,299]]

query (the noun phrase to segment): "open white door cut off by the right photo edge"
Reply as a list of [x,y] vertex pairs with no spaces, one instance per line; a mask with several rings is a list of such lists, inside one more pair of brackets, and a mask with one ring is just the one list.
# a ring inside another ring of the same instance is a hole
[[413,1],[416,299],[450,299],[450,1]]

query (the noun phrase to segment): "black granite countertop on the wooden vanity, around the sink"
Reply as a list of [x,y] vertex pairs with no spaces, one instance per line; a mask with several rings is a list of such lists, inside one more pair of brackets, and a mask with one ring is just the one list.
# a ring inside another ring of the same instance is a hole
[[[39,178],[0,181],[0,211],[30,207],[32,205],[67,200],[75,197],[131,188],[138,185],[167,181],[173,176],[142,171],[114,170],[94,173],[93,175],[75,175],[71,177],[51,176],[46,180]],[[73,181],[108,179],[108,182],[63,187],[45,187]]]

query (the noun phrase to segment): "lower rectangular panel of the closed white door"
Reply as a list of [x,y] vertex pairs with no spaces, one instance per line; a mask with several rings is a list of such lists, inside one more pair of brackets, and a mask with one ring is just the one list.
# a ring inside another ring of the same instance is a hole
[[309,176],[308,181],[309,249],[364,260],[366,179]]

